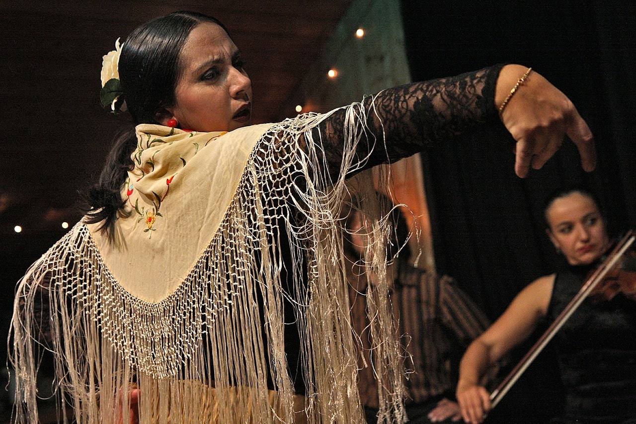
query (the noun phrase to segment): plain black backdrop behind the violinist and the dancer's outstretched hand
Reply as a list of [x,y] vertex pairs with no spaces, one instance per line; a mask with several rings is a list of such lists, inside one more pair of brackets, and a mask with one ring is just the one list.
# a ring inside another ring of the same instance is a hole
[[[596,192],[614,233],[636,228],[636,9],[616,0],[403,0],[402,12],[413,80],[501,62],[532,66],[572,99],[595,135],[592,173],[566,140],[543,169],[517,178],[513,140],[501,125],[424,155],[438,271],[457,278],[495,319],[525,285],[555,269],[541,209],[558,185]],[[560,402],[552,355],[540,355],[490,422],[548,420]]]

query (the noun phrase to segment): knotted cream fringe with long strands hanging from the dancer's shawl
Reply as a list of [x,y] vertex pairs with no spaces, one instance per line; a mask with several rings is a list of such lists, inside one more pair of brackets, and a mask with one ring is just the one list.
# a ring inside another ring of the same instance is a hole
[[[142,423],[363,422],[342,202],[361,198],[365,222],[372,223],[367,266],[380,276],[390,223],[370,175],[347,183],[343,177],[359,164],[354,153],[367,136],[366,111],[349,106],[337,181],[324,171],[321,140],[312,139],[325,116],[277,124],[257,143],[214,239],[162,301],[126,292],[81,222],[32,265],[18,286],[12,320],[16,420],[38,421],[36,374],[47,350],[64,422],[117,422],[132,387],[141,389]],[[291,257],[280,250],[285,237]],[[292,276],[291,288],[281,271]],[[377,374],[380,422],[400,422],[401,348],[381,280],[367,290],[375,345],[366,366]],[[289,375],[284,302],[294,305],[300,329],[305,398],[294,395]]]

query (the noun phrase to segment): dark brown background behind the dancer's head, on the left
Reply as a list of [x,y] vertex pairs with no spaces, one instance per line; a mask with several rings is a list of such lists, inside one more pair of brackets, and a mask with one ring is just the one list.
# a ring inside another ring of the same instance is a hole
[[[61,223],[79,220],[78,189],[97,179],[114,135],[130,125],[126,115],[115,117],[99,104],[102,55],[151,18],[176,10],[213,15],[247,62],[254,123],[275,122],[349,4],[0,0],[0,422],[8,417],[4,341],[15,284],[67,232]],[[52,404],[43,402],[46,409]],[[47,411],[43,417],[55,421]]]

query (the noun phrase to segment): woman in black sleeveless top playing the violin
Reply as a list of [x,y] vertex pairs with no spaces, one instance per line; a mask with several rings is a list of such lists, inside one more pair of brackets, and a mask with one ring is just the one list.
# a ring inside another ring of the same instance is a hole
[[[536,279],[466,350],[457,400],[467,423],[481,423],[492,407],[482,386],[488,367],[525,341],[542,320],[551,322],[579,292],[611,247],[595,197],[561,190],[544,208],[546,232],[565,262]],[[556,333],[565,405],[553,423],[636,423],[636,301],[625,293],[591,297]]]

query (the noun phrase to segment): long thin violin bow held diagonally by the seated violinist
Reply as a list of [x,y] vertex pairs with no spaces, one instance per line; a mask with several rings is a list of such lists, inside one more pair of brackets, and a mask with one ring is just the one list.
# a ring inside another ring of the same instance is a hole
[[590,294],[590,292],[598,285],[600,281],[605,278],[607,272],[609,272],[616,262],[623,256],[628,248],[632,245],[636,239],[634,232],[632,230],[628,231],[625,234],[625,237],[621,239],[621,241],[616,244],[616,247],[612,250],[612,253],[603,261],[602,264],[596,269],[593,274],[586,280],[581,290],[576,293],[576,296],[572,300],[570,300],[569,304],[563,309],[562,313],[560,313],[553,323],[551,323],[550,327],[543,333],[539,340],[530,348],[528,353],[524,355],[522,360],[513,368],[513,371],[508,374],[508,376],[501,382],[499,386],[492,393],[490,393],[490,402],[492,403],[492,407],[497,406],[499,401],[508,393],[508,390],[516,383],[516,381],[520,378],[523,372],[532,364],[534,358],[541,353],[543,348],[548,344],[548,342],[555,336],[556,332],[563,326],[563,324],[570,318],[570,315],[576,311],[576,308],[579,307],[581,302],[585,300],[586,297]]

